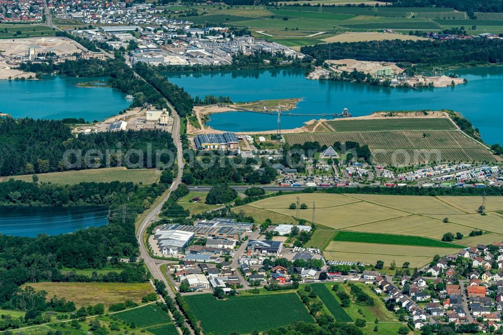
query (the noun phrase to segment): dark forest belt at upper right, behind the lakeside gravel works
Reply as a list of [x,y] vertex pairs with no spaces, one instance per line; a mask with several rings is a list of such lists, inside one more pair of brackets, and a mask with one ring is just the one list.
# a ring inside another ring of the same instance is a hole
[[[503,41],[476,38],[472,40],[369,41],[337,42],[304,46],[301,52],[317,59],[353,58],[368,61],[396,62],[409,74],[432,66],[476,65],[503,62]],[[410,66],[411,63],[416,64]]]

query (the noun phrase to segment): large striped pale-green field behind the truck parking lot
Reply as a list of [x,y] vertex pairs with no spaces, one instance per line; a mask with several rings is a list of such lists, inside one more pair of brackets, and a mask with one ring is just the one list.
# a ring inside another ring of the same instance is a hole
[[290,145],[306,141],[318,141],[321,145],[332,145],[336,141],[355,141],[369,146],[375,162],[391,165],[426,161],[500,160],[482,144],[456,130],[288,134],[285,139]]

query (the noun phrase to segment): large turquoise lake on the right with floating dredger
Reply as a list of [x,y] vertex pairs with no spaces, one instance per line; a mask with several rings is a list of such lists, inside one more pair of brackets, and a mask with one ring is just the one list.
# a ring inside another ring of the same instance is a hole
[[[192,96],[230,96],[234,102],[302,98],[295,113],[331,114],[348,108],[353,116],[375,111],[451,109],[480,129],[487,143],[503,142],[499,124],[503,100],[503,66],[456,70],[468,82],[454,88],[383,88],[344,81],[309,80],[303,69],[168,73],[171,81]],[[329,118],[329,117],[326,117]],[[283,116],[281,126],[291,129],[313,119]],[[227,131],[276,129],[276,115],[228,112],[210,116],[208,125]]]

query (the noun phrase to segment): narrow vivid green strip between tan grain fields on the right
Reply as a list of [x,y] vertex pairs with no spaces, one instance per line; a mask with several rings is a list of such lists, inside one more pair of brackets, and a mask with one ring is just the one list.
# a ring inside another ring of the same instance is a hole
[[439,241],[433,238],[427,238],[421,236],[364,233],[354,231],[338,231],[333,240],[346,241],[346,242],[362,242],[362,243],[435,246],[444,248],[459,247],[459,244]]

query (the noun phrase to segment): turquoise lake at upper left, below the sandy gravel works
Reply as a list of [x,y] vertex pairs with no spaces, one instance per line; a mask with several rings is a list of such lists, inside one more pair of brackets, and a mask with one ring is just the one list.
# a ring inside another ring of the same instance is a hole
[[40,119],[104,120],[129,107],[125,94],[112,88],[78,87],[107,78],[45,76],[42,80],[0,80],[0,113]]

